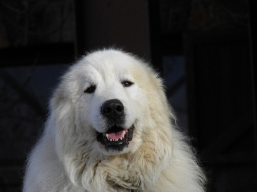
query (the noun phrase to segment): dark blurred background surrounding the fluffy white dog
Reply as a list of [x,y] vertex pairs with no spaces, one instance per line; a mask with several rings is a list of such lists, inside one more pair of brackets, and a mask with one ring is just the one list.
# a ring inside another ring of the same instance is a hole
[[257,0],[1,0],[0,192],[21,191],[60,76],[110,46],[164,78],[208,191],[256,192],[256,24]]

